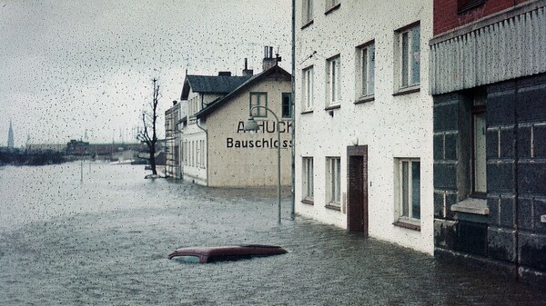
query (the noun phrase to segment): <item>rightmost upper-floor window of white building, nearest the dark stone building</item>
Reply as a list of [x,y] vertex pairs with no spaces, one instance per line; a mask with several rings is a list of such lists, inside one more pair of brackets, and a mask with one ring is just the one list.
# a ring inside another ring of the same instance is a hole
[[420,84],[420,25],[397,32],[399,89]]

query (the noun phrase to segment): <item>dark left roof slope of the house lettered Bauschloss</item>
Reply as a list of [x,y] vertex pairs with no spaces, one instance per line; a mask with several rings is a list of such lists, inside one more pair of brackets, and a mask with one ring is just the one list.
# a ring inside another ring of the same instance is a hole
[[180,100],[187,100],[190,89],[200,94],[228,94],[248,78],[250,76],[186,75]]

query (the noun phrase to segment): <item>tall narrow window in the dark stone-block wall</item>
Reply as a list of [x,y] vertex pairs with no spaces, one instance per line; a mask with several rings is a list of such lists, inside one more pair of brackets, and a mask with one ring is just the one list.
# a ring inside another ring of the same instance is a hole
[[485,94],[476,94],[472,102],[472,193],[487,192]]

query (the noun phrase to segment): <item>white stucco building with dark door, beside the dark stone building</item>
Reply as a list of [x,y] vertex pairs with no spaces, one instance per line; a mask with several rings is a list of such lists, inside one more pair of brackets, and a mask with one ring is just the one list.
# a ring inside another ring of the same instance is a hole
[[432,1],[296,3],[296,212],[431,254]]

